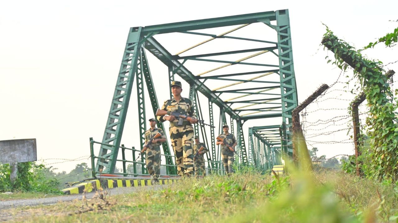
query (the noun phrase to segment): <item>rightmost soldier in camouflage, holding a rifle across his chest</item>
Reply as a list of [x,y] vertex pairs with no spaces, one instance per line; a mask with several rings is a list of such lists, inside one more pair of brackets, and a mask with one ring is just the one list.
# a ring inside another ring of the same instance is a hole
[[[222,131],[224,134],[219,135],[220,138],[226,138],[226,142],[230,144],[232,149],[235,151],[235,146],[238,144],[236,142],[236,138],[234,135],[228,133],[229,127],[228,125],[224,124],[222,125]],[[232,165],[234,164],[234,151],[231,151],[230,148],[227,145],[224,145],[222,141],[217,140],[216,142],[217,145],[221,145],[221,155],[222,155],[222,163],[224,164],[224,170],[227,175],[230,175],[231,173],[234,173],[234,170],[232,169]]]

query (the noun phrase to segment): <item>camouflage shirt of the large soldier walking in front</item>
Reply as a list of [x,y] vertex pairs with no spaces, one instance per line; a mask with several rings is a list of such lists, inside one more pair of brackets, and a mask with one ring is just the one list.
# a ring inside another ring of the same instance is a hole
[[[168,112],[178,112],[196,119],[195,111],[193,110],[193,104],[188,98],[181,97],[181,100],[179,100],[179,102],[177,102],[174,98],[166,100],[162,106],[162,110]],[[164,119],[164,115],[157,116],[156,118],[161,122],[166,121],[166,119]],[[175,119],[174,121],[172,121],[172,123],[174,123],[174,126],[176,126],[178,123],[178,119]],[[172,123],[170,123],[170,126],[173,126]],[[191,125],[191,123],[187,120],[184,120],[183,125]]]

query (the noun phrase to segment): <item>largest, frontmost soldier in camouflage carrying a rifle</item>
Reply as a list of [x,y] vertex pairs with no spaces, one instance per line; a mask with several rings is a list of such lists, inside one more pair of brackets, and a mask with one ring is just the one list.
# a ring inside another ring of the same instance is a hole
[[158,116],[161,122],[170,121],[170,138],[174,154],[176,155],[177,173],[181,176],[191,176],[193,169],[193,127],[192,124],[197,123],[196,115],[193,110],[191,100],[181,97],[181,82],[172,82],[173,98],[166,100],[162,106],[162,110],[168,112],[178,112],[183,115],[193,117],[191,121],[183,120],[182,125],[178,125],[178,119],[173,115]]

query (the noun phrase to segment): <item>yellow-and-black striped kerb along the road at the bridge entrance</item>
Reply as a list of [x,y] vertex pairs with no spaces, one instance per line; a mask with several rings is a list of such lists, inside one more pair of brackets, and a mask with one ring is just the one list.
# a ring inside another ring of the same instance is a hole
[[[159,179],[160,185],[172,184],[177,179]],[[96,179],[85,181],[77,185],[62,190],[64,194],[82,194],[98,190],[98,188],[117,188],[117,187],[137,187],[137,186],[150,186],[152,185],[150,179]]]

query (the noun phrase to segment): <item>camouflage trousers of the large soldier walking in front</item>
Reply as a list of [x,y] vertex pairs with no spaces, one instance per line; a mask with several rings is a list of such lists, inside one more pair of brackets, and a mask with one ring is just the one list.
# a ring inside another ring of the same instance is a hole
[[190,125],[170,127],[170,139],[178,175],[193,175],[193,127]]

